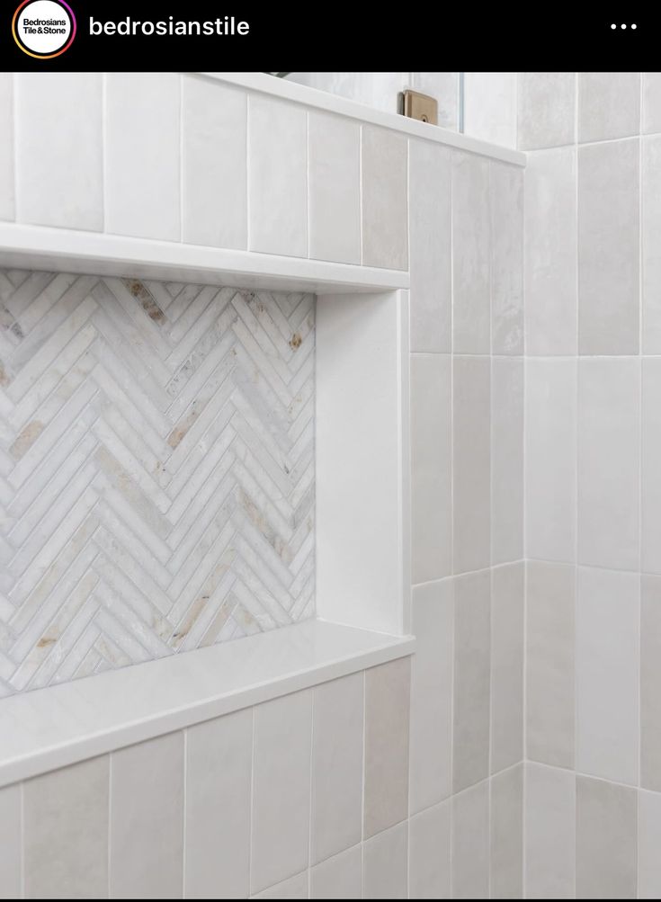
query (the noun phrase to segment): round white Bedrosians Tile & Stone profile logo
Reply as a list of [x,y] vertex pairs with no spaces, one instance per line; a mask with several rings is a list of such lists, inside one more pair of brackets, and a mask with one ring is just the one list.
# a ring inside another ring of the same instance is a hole
[[23,0],[12,20],[14,41],[35,60],[60,56],[76,37],[76,16],[64,0]]

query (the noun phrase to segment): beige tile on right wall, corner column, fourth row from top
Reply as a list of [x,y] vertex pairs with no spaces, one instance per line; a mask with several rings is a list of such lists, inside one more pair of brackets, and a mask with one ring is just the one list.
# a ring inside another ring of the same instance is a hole
[[526,756],[573,768],[575,567],[526,568]]

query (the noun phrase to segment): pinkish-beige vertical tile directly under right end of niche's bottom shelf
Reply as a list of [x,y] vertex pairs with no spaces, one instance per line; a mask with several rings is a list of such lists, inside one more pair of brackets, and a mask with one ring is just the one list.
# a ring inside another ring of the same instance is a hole
[[363,836],[409,814],[410,658],[365,671]]

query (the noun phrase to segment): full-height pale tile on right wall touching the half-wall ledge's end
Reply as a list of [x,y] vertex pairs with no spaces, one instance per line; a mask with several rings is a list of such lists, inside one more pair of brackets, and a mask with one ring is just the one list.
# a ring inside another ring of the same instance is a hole
[[576,151],[528,153],[524,227],[526,353],[576,354]]

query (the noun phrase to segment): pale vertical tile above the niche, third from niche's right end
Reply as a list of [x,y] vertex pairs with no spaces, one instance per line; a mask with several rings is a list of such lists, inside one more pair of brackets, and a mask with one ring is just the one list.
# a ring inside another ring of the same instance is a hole
[[248,250],[308,256],[306,110],[248,97]]

